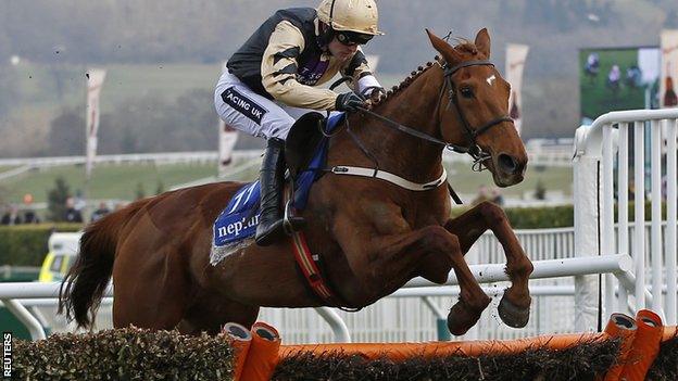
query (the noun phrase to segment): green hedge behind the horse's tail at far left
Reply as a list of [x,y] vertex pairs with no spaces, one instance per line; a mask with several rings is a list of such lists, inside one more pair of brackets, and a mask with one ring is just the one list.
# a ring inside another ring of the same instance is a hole
[[80,224],[39,224],[0,227],[0,266],[41,266],[53,231],[78,231]]

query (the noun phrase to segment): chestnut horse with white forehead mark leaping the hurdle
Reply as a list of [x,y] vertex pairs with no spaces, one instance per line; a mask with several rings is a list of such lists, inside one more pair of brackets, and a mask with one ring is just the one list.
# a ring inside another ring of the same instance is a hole
[[[424,183],[441,177],[442,144],[448,144],[468,150],[498,186],[520,182],[527,154],[506,116],[510,85],[488,61],[489,34],[482,29],[475,42],[456,47],[428,34],[441,59],[389,91],[374,105],[376,114],[349,115],[352,134],[343,128],[331,138],[328,166],[373,168],[376,161],[380,170]],[[379,116],[412,129],[389,128]],[[369,177],[321,177],[302,216],[328,284],[343,307],[363,307],[417,276],[443,283],[453,269],[461,295],[448,327],[463,334],[490,303],[464,254],[491,229],[503,245],[512,281],[500,317],[524,327],[532,264],[505,214],[486,202],[451,219],[444,185],[417,192]],[[260,306],[327,305],[300,276],[287,239],[265,247],[250,244],[210,264],[212,224],[240,187],[218,182],[165,192],[89,225],[62,284],[60,310],[80,327],[91,327],[111,276],[115,327],[214,333],[228,321],[251,326]]]

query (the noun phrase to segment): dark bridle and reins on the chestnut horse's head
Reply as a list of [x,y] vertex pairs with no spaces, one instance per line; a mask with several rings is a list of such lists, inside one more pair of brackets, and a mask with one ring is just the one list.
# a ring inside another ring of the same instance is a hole
[[[452,79],[452,77],[454,76],[454,74],[456,72],[459,72],[461,68],[464,67],[468,67],[468,66],[494,66],[494,64],[492,64],[490,61],[488,60],[475,60],[475,61],[466,61],[463,63],[460,63],[457,65],[454,66],[449,66],[447,63],[442,64],[441,67],[443,69],[443,84],[440,88],[440,96],[438,97],[438,103],[436,105],[436,116],[438,117],[438,125],[440,125],[442,122],[440,120],[440,105],[442,103],[442,97],[445,92],[445,89],[448,89],[448,98],[449,98],[449,102],[447,105],[447,109],[450,109],[450,104],[454,105],[454,109],[456,110],[456,113],[460,116],[460,119],[462,122],[462,126],[464,126],[464,132],[466,135],[466,138],[468,140],[468,145],[457,145],[457,144],[452,144],[449,142],[445,142],[444,140],[438,139],[436,137],[432,137],[428,134],[422,132],[419,130],[416,130],[414,128],[404,126],[398,122],[394,122],[392,119],[389,119],[382,115],[379,115],[368,109],[365,107],[357,107],[362,113],[368,114],[381,122],[384,122],[385,124],[387,124],[388,126],[395,128],[397,130],[407,134],[410,136],[413,136],[415,138],[422,139],[422,140],[426,140],[429,141],[431,143],[436,143],[439,145],[442,145],[444,148],[447,148],[448,150],[457,152],[457,153],[468,153],[473,158],[474,158],[474,163],[473,163],[473,170],[475,172],[480,172],[485,169],[484,166],[484,162],[486,162],[487,160],[489,160],[491,157],[491,155],[486,152],[482,151],[482,149],[480,148],[480,145],[478,145],[478,143],[476,142],[477,138],[487,132],[490,128],[499,125],[500,123],[503,122],[508,122],[508,123],[513,123],[513,119],[507,115],[501,115],[498,116],[491,120],[486,122],[485,124],[482,124],[481,126],[477,127],[477,128],[473,128],[470,127],[470,124],[468,123],[468,119],[466,118],[466,115],[464,114],[463,109],[460,106],[459,104],[459,94],[456,92],[456,87],[454,86],[454,80]],[[361,147],[362,148],[362,147]],[[372,155],[369,155],[372,156]]]

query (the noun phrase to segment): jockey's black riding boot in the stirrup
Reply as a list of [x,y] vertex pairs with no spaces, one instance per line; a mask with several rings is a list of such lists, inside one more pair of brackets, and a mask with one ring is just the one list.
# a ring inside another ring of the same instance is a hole
[[287,229],[280,216],[280,195],[285,176],[285,141],[268,139],[264,162],[259,173],[261,185],[261,216],[254,240],[260,246],[267,246],[280,239],[286,230],[300,230],[305,225],[301,217],[289,217]]

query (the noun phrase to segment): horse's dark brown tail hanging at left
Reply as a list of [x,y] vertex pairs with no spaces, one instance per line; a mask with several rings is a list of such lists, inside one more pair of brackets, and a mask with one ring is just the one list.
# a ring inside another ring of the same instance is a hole
[[59,290],[58,314],[65,312],[66,318],[75,318],[78,327],[89,328],[93,325],[113,274],[120,232],[147,201],[137,201],[85,228],[77,259]]

